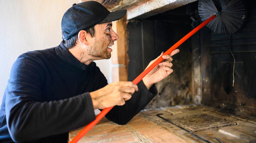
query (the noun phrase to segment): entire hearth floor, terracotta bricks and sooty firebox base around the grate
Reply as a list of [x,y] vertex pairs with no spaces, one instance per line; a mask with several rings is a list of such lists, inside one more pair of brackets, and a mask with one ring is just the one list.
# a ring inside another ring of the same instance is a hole
[[[215,137],[224,143],[256,142],[255,120],[241,119],[238,116],[218,113],[212,108],[207,107],[187,106],[184,108],[177,106],[141,111],[126,125],[118,125],[103,118],[90,130],[90,132],[79,140],[79,143],[205,143],[205,141],[195,135],[192,135],[176,125],[156,116],[157,114],[162,114],[161,117],[175,121],[175,119],[185,118],[186,116],[189,117],[190,115],[199,113],[208,114],[237,123],[237,125],[193,132],[203,139],[211,143],[220,143]],[[186,129],[186,125],[180,126]],[[70,132],[69,140],[73,139],[81,129]]]

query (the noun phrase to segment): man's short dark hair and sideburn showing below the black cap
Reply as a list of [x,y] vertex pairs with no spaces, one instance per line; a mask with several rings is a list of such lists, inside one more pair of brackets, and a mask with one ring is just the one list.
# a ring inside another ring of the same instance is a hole
[[[87,33],[89,33],[91,35],[92,38],[95,37],[95,30],[94,30],[94,26],[85,30]],[[62,36],[64,35],[64,33],[61,33]],[[77,37],[78,35],[75,35],[74,37],[71,37],[70,39],[66,40],[66,41],[62,41],[62,44],[67,48],[67,49],[71,49],[73,47],[75,47],[76,41],[77,41]]]

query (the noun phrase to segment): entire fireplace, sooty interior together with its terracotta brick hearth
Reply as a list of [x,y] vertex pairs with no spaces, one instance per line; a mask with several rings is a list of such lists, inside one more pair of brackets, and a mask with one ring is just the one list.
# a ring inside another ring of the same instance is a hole
[[[128,81],[202,23],[198,1],[173,3],[143,14],[128,9]],[[126,125],[103,118],[80,142],[256,142],[256,6],[247,3],[248,20],[237,33],[203,27],[178,47],[173,73],[156,84],[158,95],[143,111]]]

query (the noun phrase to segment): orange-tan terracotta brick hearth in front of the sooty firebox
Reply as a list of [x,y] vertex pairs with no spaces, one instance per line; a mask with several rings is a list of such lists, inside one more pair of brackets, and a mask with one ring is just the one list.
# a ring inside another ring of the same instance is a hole
[[[75,137],[81,129],[72,131],[69,134],[69,139]],[[118,125],[114,122],[101,119],[79,143],[185,143],[182,138],[172,134],[172,131],[145,119],[140,113],[136,115],[126,125]]]

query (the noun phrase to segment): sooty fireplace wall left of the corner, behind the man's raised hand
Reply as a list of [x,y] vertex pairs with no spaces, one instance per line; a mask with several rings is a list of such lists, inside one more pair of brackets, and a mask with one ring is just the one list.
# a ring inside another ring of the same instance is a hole
[[[133,81],[161,52],[165,52],[191,30],[186,6],[166,11],[141,21],[128,23],[130,58],[128,80]],[[192,102],[191,40],[179,47],[173,56],[174,72],[156,84],[158,95],[146,108],[159,108]]]

